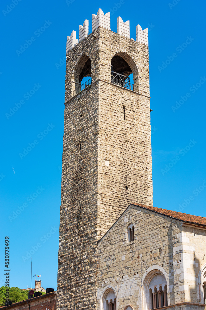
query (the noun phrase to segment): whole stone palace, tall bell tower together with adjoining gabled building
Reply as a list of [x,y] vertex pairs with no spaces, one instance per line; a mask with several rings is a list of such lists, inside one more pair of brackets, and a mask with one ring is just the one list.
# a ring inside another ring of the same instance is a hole
[[203,310],[206,218],[153,207],[148,29],[88,25],[66,44],[57,309]]

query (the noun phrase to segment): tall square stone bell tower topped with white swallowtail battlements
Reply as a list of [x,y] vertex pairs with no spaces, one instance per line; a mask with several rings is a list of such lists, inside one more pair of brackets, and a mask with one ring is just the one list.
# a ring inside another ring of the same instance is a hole
[[[99,9],[67,37],[57,308],[96,308],[97,241],[129,203],[152,205],[148,30]],[[116,29],[114,29],[116,31]],[[133,80],[129,79],[133,74]],[[82,79],[90,80],[82,86]]]

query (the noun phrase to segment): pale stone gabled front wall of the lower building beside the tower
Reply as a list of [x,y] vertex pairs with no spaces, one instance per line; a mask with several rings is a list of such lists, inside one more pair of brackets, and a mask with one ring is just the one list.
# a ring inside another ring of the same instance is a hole
[[[131,223],[135,240],[128,242],[127,227]],[[130,206],[98,243],[97,309],[103,309],[100,305],[103,292],[111,287],[117,296],[116,310],[124,310],[128,304],[146,310],[142,282],[151,268],[168,278],[168,305],[184,302],[180,263],[173,265],[181,259],[180,251],[173,253],[177,244],[182,245],[178,238],[181,232],[181,222]]]

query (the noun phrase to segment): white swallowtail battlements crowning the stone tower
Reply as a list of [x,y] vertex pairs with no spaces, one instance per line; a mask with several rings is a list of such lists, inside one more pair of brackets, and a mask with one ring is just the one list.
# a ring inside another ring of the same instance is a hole
[[[104,14],[102,9],[99,8],[97,15],[95,14],[92,15],[92,31],[94,31],[98,27],[103,27],[105,29],[111,30],[110,12]],[[126,38],[130,38],[129,20],[124,22],[120,16],[117,18],[117,33]],[[137,34],[137,42],[148,45],[148,28],[142,30],[141,26],[137,25],[136,34]],[[66,52],[68,52],[71,48],[75,47],[75,45],[78,44],[78,42],[81,42],[88,35],[89,35],[89,20],[85,20],[83,26],[79,25],[79,39],[76,39],[76,31],[72,31],[71,36],[67,37]]]

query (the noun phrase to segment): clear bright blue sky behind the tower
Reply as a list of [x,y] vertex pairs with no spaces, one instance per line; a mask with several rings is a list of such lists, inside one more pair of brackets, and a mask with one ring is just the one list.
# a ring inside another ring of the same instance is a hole
[[[85,19],[91,32],[99,6],[104,14],[111,11],[114,32],[118,16],[130,20],[130,38],[136,38],[137,24],[149,28],[154,206],[205,216],[206,5],[191,0],[17,2],[5,0],[0,10],[0,281],[4,237],[9,236],[10,285],[30,286],[31,259],[24,257],[33,249],[32,276],[41,274],[42,286],[56,290],[66,36],[75,30],[78,37]],[[45,21],[47,28],[38,32]],[[16,52],[26,40],[28,48]],[[29,143],[31,151],[20,158]],[[17,217],[9,218],[16,210]]]

